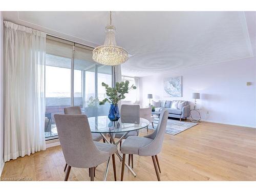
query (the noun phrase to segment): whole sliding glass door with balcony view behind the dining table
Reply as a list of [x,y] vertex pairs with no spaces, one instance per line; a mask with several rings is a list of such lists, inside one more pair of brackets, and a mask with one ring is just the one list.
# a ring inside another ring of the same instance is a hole
[[47,139],[57,138],[54,114],[67,106],[80,106],[88,117],[108,115],[102,82],[112,86],[112,67],[92,60],[92,48],[55,37],[47,38],[46,123]]

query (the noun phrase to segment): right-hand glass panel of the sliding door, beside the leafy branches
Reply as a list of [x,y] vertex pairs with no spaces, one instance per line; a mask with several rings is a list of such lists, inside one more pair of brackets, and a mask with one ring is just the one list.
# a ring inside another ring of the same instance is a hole
[[88,117],[107,115],[110,106],[99,105],[106,97],[102,82],[112,87],[112,67],[103,66],[92,60],[92,50],[75,46],[74,60],[74,105],[80,106]]

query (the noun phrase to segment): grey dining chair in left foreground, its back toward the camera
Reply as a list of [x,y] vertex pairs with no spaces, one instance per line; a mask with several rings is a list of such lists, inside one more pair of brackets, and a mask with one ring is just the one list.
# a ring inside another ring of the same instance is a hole
[[[91,181],[94,181],[94,167],[112,156],[114,178],[116,181],[115,152],[117,146],[110,143],[93,141],[90,125],[86,115],[54,115],[60,145],[68,163],[65,181],[68,180],[71,167],[89,168]],[[70,131],[72,127],[72,132]],[[106,167],[105,176],[108,172]]]

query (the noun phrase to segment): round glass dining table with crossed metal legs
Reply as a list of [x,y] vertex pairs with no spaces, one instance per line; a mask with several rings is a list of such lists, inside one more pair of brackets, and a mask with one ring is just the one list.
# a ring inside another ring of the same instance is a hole
[[[139,118],[139,117],[120,117],[118,121],[110,121],[108,116],[97,116],[97,117],[89,117],[88,118],[91,132],[99,133],[104,138],[104,140],[108,143],[112,143],[118,145],[120,141],[131,131],[136,131],[143,129],[144,127],[150,124],[150,121]],[[123,133],[123,135],[119,138],[118,141],[115,141],[116,133]],[[106,135],[110,136],[110,141],[106,138]],[[117,147],[118,148],[118,147]],[[117,150],[117,157],[122,161],[122,157]],[[110,164],[110,158],[108,163],[106,164],[106,170],[104,175],[104,181],[106,180],[106,175],[108,174]],[[130,170],[130,172],[136,177],[134,170],[125,163],[125,166]]]

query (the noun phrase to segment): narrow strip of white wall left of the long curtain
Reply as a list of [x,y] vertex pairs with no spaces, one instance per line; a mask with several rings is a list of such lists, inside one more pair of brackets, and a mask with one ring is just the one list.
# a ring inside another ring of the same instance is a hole
[[4,168],[4,23],[0,11],[0,175]]

